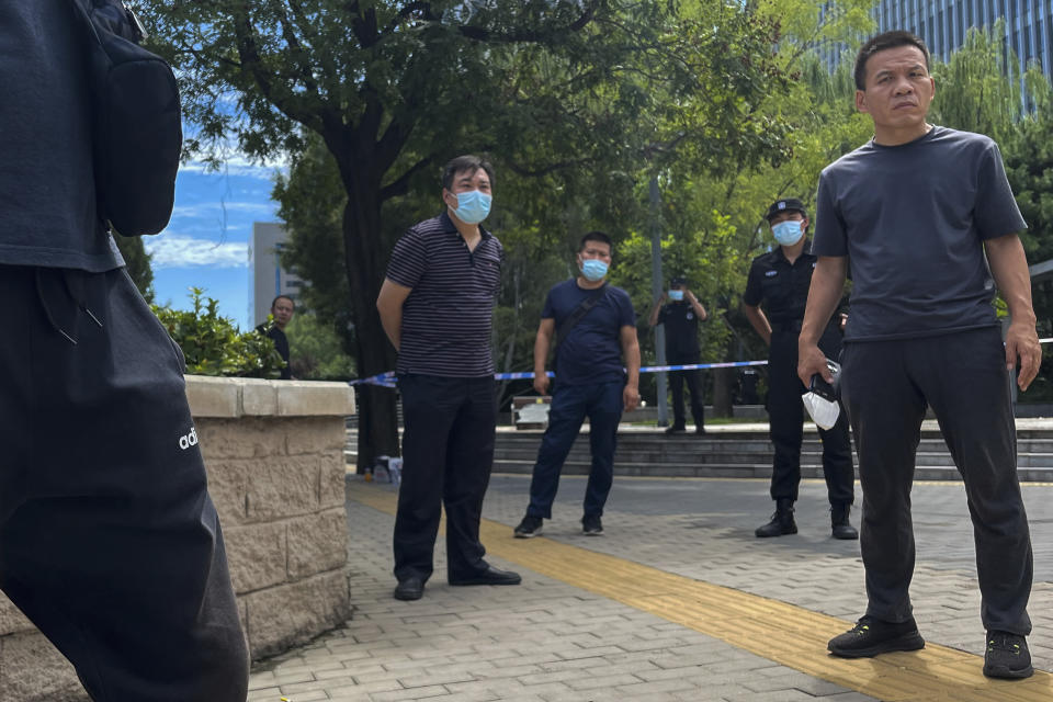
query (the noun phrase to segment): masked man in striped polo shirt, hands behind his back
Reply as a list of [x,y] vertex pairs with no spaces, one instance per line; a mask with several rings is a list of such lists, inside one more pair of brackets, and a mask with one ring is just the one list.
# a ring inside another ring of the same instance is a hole
[[398,600],[423,595],[443,505],[450,585],[520,582],[518,574],[487,564],[479,543],[497,427],[490,330],[503,253],[479,226],[492,182],[492,167],[478,157],[446,165],[446,212],[398,240],[376,301],[398,350],[405,424],[394,537]]

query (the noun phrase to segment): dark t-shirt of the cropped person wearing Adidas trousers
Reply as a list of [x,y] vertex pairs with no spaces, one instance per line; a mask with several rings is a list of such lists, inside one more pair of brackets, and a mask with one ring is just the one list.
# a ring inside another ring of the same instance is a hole
[[0,264],[124,264],[95,212],[86,27],[67,1],[0,2]]

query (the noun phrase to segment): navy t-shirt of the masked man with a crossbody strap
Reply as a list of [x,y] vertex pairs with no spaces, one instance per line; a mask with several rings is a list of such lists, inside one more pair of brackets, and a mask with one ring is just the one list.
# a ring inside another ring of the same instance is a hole
[[[595,290],[582,290],[576,279],[557,283],[548,291],[543,319],[553,319],[556,333],[564,319]],[[562,385],[608,383],[625,377],[622,363],[622,327],[635,327],[636,315],[629,294],[608,285],[603,297],[559,342],[556,382]]]

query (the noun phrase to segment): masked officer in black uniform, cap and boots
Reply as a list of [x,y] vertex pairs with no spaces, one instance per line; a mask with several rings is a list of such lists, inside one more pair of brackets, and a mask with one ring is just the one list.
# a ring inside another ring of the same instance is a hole
[[[806,234],[808,215],[804,204],[788,197],[774,202],[766,215],[779,247],[754,259],[743,295],[746,317],[768,343],[768,417],[775,453],[771,475],[771,498],[775,512],[771,521],[757,529],[757,536],[797,533],[793,503],[801,482],[801,439],[806,390],[797,377],[797,335],[808,298],[808,285],[816,257],[811,253]],[[761,302],[765,310],[760,309]],[[841,350],[838,325],[827,327],[819,348],[829,359]],[[858,539],[849,523],[853,501],[854,472],[848,419],[843,408],[837,423],[819,429],[823,440],[823,473],[830,500],[830,522],[836,539]]]

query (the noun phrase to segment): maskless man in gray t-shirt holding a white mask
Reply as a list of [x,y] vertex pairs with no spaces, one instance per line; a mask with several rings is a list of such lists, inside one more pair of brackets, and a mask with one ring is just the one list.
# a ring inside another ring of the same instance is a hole
[[[841,353],[841,398],[859,453],[860,548],[868,608],[829,642],[836,656],[915,650],[910,484],[926,406],[965,483],[987,630],[984,675],[1032,673],[1026,636],[1032,556],[1016,475],[1007,369],[1026,389],[1038,373],[1023,247],[1026,228],[989,138],[932,126],[929,55],[918,37],[887,32],[856,61],[856,105],[874,138],[819,180],[812,278],[797,373],[831,380],[816,342],[852,270],[852,314]],[[995,285],[1011,316],[1003,344]]]

